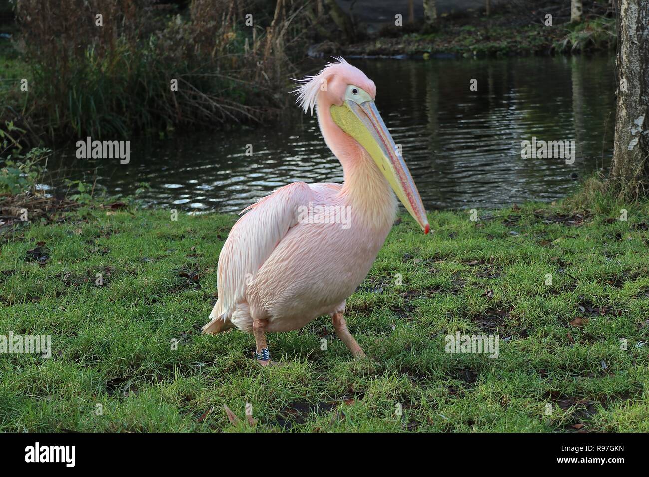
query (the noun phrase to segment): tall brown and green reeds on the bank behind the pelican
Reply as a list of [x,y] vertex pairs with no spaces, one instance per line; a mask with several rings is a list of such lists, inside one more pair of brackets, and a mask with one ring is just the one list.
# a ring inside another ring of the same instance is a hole
[[[178,12],[156,0],[21,0],[30,119],[53,142],[265,121],[286,101],[276,93],[295,72],[305,4],[193,0]],[[252,25],[247,12],[260,12]]]

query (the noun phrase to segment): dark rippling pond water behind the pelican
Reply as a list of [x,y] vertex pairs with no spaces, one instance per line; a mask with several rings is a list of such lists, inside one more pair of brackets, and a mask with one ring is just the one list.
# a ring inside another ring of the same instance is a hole
[[[350,62],[376,83],[378,109],[428,209],[554,200],[609,163],[611,58]],[[520,143],[532,136],[575,140],[574,164],[521,158]],[[97,182],[123,194],[148,182],[151,189],[140,195],[147,203],[184,210],[234,212],[289,182],[343,179],[315,117],[297,107],[274,127],[132,140],[128,165],[78,160],[75,151],[58,154],[72,177],[96,167]]]

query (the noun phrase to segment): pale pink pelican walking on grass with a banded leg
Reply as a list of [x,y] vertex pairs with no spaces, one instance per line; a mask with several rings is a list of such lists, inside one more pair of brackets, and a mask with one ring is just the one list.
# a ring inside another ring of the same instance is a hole
[[241,212],[221,250],[218,300],[202,328],[252,332],[262,366],[275,363],[266,333],[297,330],[321,315],[330,315],[356,358],[365,356],[347,329],[345,301],[386,241],[397,197],[424,234],[430,230],[417,186],[374,104],[374,82],[343,58],[334,60],[298,80],[294,93],[305,114],[315,106],[344,182],[293,182]]

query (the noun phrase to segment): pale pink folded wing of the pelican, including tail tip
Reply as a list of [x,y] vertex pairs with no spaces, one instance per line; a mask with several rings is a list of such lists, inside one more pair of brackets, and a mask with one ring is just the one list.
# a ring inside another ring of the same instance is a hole
[[[313,191],[304,182],[293,182],[245,208],[230,230],[219,255],[219,299],[203,332],[219,332],[245,297],[246,284],[273,253],[289,228],[297,224],[300,206],[308,206]],[[245,213],[245,214],[244,214]]]

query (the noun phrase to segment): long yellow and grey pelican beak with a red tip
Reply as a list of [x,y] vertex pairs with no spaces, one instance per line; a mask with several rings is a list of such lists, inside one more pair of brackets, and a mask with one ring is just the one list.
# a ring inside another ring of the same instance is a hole
[[358,104],[348,99],[341,106],[331,106],[331,114],[336,124],[372,156],[401,203],[428,234],[430,225],[415,181],[374,101]]

